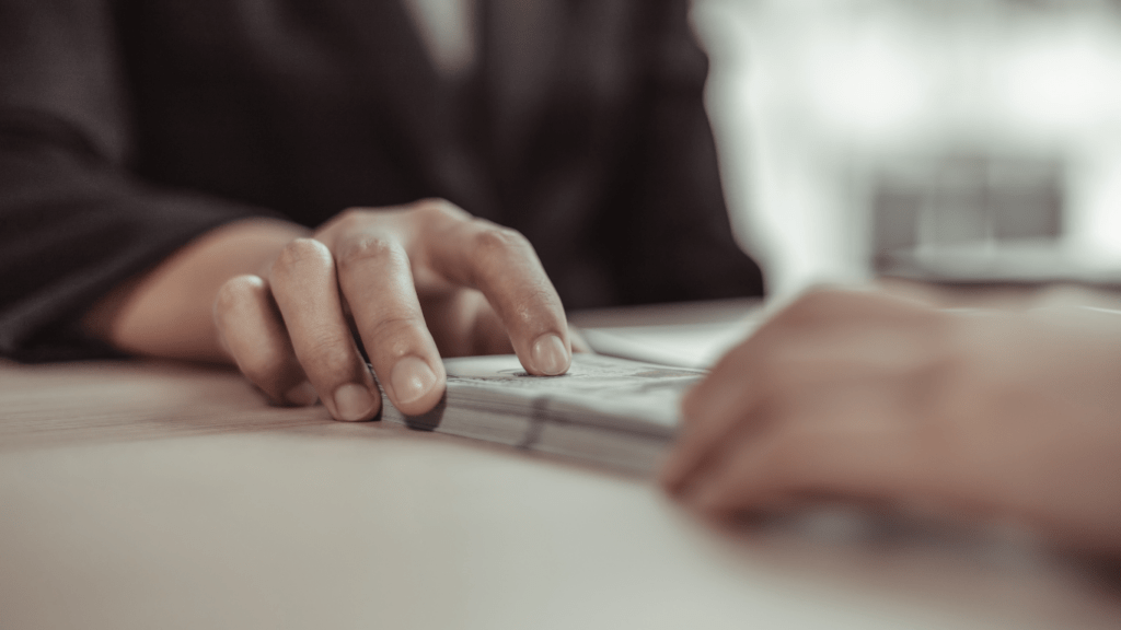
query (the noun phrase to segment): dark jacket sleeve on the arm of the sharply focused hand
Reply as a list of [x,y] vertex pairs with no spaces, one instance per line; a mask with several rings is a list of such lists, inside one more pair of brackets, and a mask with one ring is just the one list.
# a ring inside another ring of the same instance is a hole
[[76,322],[191,239],[260,211],[129,174],[109,0],[0,0],[0,355],[106,351]]

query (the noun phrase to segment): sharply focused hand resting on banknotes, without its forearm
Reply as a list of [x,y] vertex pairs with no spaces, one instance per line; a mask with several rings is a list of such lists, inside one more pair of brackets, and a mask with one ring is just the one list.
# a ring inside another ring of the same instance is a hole
[[560,299],[519,233],[441,201],[350,210],[284,245],[214,300],[223,348],[281,402],[316,397],[340,420],[380,410],[374,376],[405,414],[444,391],[441,354],[517,353],[532,374],[572,360]]

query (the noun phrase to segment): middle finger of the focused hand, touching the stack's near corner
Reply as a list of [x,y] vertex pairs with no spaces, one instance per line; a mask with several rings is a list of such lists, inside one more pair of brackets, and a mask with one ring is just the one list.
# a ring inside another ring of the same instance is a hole
[[439,402],[447,376],[405,248],[393,233],[376,229],[348,231],[334,248],[339,285],[389,400],[406,415],[428,411]]

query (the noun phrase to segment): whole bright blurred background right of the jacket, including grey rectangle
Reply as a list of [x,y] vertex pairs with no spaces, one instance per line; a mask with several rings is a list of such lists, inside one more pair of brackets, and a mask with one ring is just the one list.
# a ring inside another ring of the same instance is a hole
[[1121,285],[1121,2],[694,0],[771,291]]

